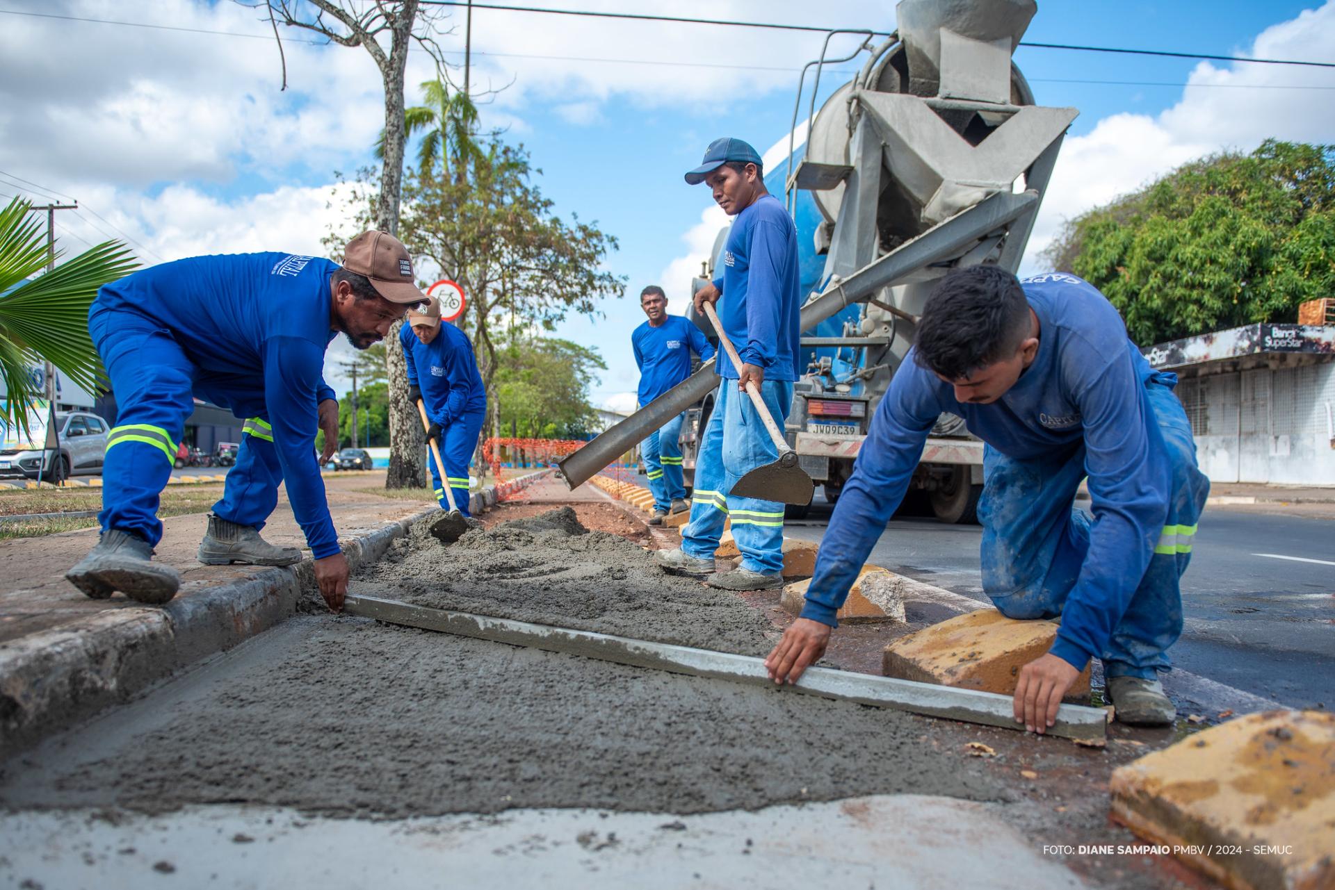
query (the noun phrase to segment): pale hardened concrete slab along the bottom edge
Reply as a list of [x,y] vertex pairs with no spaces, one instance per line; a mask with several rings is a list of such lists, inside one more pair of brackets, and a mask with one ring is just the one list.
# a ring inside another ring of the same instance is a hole
[[[1084,886],[995,806],[876,795],[677,817],[586,809],[410,821],[208,806],[140,817],[7,813],[19,886],[996,887]],[[375,855],[367,855],[375,850]],[[391,877],[392,875],[392,877]]]

